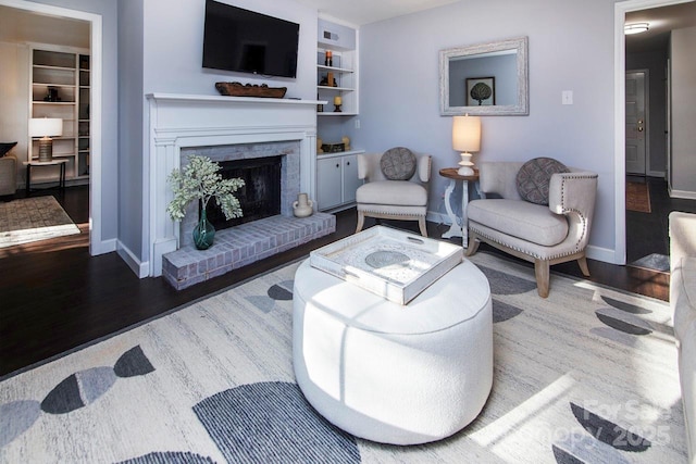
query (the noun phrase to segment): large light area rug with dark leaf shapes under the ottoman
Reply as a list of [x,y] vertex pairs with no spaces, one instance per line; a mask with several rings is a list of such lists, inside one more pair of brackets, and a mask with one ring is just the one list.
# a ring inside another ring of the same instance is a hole
[[308,405],[291,365],[296,263],[2,379],[0,461],[686,461],[664,302],[555,274],[545,300],[530,267],[472,261],[493,293],[494,386],[448,439],[383,446]]

